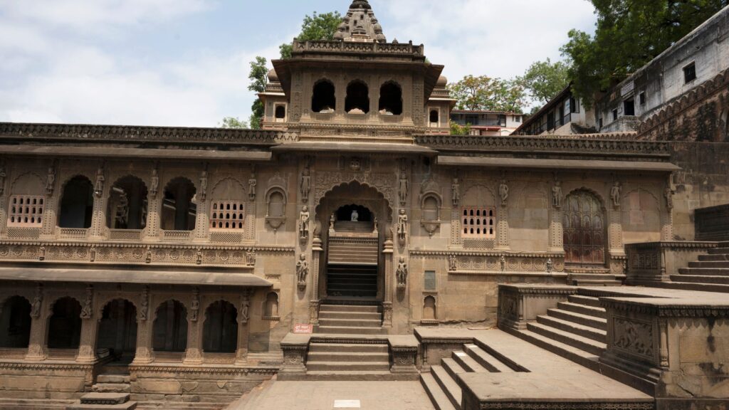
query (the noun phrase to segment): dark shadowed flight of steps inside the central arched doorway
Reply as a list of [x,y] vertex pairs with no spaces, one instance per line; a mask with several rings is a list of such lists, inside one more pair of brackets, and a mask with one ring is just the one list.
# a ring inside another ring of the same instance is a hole
[[334,297],[375,298],[377,265],[327,266],[327,294]]

